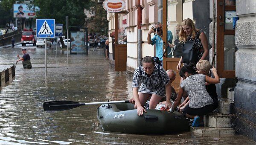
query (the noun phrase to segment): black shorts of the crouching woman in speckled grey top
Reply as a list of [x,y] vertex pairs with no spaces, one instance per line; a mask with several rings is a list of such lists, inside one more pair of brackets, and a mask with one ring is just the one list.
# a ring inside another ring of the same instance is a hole
[[191,107],[189,107],[189,105],[187,105],[183,109],[183,116],[186,117],[186,114],[189,114],[189,115],[192,115],[192,116],[206,115],[206,114],[211,113],[213,110],[216,109],[216,103],[217,103],[217,107],[218,107],[218,102],[215,102],[215,100],[213,101],[212,104],[206,105],[206,106],[201,107],[201,108],[191,108]]

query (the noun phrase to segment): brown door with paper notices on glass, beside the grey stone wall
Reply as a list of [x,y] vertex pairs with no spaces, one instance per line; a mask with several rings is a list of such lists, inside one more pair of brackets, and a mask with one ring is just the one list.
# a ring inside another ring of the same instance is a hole
[[235,78],[236,1],[217,0],[217,71],[220,78]]

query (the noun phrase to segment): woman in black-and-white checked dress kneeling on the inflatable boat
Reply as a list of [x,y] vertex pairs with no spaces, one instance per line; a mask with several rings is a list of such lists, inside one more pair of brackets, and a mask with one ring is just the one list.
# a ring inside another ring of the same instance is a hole
[[[140,80],[142,83],[139,89]],[[130,99],[130,102],[135,101],[134,108],[137,109],[139,116],[146,112],[143,106],[149,97],[151,97],[149,109],[155,109],[165,94],[166,108],[172,106],[170,102],[172,86],[169,77],[163,67],[154,63],[151,56],[145,56],[142,65],[134,71],[132,87],[133,98]]]

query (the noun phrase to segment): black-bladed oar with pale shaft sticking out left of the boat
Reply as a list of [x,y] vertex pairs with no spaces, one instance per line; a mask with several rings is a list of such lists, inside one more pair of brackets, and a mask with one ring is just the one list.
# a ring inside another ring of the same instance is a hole
[[115,104],[115,103],[129,103],[129,100],[123,101],[111,101],[111,102],[90,102],[90,103],[79,103],[73,101],[51,101],[44,102],[45,111],[61,111],[69,110],[84,105],[96,105],[96,104]]

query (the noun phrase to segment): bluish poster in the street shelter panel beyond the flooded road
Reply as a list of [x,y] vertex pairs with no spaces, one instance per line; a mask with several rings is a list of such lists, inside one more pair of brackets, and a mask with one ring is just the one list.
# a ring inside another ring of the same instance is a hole
[[85,53],[84,31],[71,32],[70,54]]

